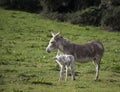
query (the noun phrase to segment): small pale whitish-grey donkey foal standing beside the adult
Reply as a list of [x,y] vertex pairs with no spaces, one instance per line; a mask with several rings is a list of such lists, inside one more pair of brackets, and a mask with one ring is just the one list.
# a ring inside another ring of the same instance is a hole
[[59,80],[63,80],[64,75],[64,68],[66,68],[66,78],[68,77],[68,70],[71,70],[72,80],[75,80],[75,73],[74,73],[74,56],[73,55],[66,55],[66,54],[60,54],[60,51],[58,50],[56,57],[54,58],[56,62],[59,64],[61,70],[60,70],[60,78]]

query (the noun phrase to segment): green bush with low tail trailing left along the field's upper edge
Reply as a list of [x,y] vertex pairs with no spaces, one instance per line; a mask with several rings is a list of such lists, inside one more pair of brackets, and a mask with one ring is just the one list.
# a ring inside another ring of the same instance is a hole
[[98,7],[90,7],[75,13],[59,13],[49,12],[43,13],[44,16],[52,20],[67,21],[72,24],[79,25],[95,25],[98,26],[101,22],[101,10]]

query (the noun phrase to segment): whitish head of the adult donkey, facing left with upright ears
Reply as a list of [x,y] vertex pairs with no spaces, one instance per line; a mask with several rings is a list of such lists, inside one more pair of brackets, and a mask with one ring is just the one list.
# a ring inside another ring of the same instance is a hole
[[46,48],[46,51],[48,53],[50,53],[54,49],[58,49],[60,46],[60,40],[62,39],[62,37],[60,36],[60,33],[57,33],[57,34],[51,33],[51,34],[52,34],[52,38],[50,39],[49,44]]

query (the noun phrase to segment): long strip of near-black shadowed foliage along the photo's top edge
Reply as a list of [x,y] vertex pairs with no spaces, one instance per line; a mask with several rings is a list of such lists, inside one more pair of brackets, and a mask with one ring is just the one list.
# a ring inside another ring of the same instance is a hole
[[0,0],[9,8],[27,10],[31,12],[75,12],[90,6],[99,6],[101,0]]

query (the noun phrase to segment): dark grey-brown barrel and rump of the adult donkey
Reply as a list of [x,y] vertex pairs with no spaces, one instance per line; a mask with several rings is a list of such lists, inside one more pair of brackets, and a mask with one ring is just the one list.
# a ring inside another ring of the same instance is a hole
[[80,62],[101,59],[104,53],[103,44],[99,41],[94,41],[87,44],[71,44],[70,54],[75,56],[75,59]]

